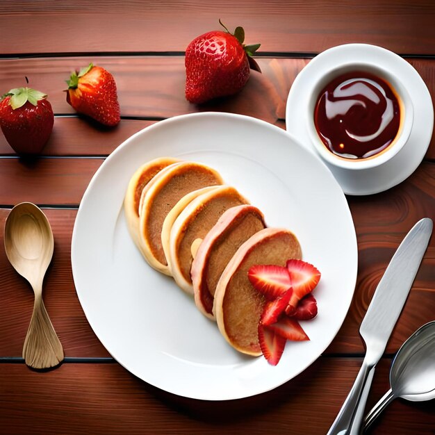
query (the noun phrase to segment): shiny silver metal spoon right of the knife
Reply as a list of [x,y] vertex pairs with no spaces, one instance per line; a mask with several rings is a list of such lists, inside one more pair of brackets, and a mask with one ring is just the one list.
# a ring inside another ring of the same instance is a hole
[[396,397],[412,402],[435,399],[435,320],[420,327],[397,351],[391,363],[390,385],[367,414],[364,430]]

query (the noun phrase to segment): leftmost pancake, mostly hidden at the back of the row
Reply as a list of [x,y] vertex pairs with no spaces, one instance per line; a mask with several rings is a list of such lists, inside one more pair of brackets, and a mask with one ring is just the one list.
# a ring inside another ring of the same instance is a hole
[[164,167],[177,162],[177,158],[172,157],[156,158],[139,167],[129,181],[124,198],[124,214],[130,236],[140,252],[142,252],[142,245],[139,237],[139,203],[142,190]]

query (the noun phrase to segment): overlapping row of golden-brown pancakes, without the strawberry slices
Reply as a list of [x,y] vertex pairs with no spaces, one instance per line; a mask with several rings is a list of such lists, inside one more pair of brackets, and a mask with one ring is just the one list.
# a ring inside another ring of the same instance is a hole
[[138,168],[124,211],[147,263],[193,295],[236,350],[260,355],[265,299],[247,272],[252,265],[284,266],[288,258],[301,258],[295,235],[266,227],[263,213],[211,167],[169,157]]

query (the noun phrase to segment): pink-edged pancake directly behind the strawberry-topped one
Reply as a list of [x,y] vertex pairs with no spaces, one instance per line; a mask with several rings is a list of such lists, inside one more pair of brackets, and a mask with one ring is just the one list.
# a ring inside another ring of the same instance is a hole
[[263,213],[251,205],[229,208],[208,231],[192,262],[192,285],[195,304],[214,320],[213,299],[224,268],[237,249],[265,228]]

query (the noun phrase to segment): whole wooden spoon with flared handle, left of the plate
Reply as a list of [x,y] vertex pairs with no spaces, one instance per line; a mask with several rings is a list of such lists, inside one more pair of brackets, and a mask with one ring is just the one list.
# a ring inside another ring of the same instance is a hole
[[35,204],[22,202],[10,211],[5,249],[10,263],[35,293],[23,358],[33,368],[57,366],[63,360],[63,348],[42,302],[42,281],[53,256],[54,239],[47,217]]

